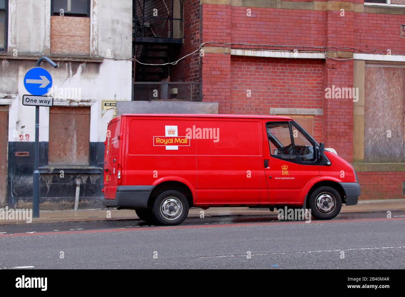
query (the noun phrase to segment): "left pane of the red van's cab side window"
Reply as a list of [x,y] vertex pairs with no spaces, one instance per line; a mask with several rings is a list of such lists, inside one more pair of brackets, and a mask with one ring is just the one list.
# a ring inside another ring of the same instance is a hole
[[294,155],[288,122],[266,125],[271,155]]

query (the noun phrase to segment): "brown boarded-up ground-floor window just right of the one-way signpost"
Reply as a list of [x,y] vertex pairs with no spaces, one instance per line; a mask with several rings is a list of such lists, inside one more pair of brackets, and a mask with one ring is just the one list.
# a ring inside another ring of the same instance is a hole
[[90,107],[49,108],[49,165],[89,165]]

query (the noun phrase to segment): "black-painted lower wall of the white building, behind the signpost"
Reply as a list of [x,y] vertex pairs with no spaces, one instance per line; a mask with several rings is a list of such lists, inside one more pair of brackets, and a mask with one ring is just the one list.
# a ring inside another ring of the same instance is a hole
[[[16,152],[29,152],[16,157]],[[101,207],[104,143],[90,142],[89,166],[48,166],[48,142],[40,142],[40,209],[73,209],[76,181],[80,181],[79,209]],[[32,207],[34,142],[9,142],[9,207]],[[63,173],[63,174],[62,174]]]

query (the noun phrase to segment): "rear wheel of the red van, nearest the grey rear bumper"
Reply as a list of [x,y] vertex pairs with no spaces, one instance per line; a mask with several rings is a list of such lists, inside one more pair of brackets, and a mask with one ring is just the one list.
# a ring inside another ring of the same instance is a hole
[[188,215],[188,210],[187,198],[179,191],[164,191],[153,201],[153,216],[162,225],[182,223]]

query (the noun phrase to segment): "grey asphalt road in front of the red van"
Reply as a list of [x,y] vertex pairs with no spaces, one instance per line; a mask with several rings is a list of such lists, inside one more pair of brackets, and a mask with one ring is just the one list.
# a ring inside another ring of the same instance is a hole
[[311,223],[276,215],[189,218],[172,227],[141,220],[2,225],[0,268],[404,269],[405,212],[392,216],[350,213]]

